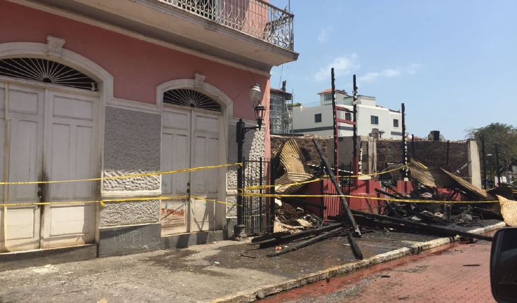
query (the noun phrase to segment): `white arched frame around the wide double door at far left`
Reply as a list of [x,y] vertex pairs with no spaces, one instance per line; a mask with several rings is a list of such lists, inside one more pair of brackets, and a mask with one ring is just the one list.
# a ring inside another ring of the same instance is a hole
[[[51,37],[48,37],[50,41]],[[64,40],[63,40],[64,42]],[[94,63],[85,56],[81,56],[76,52],[66,50],[65,48],[56,49],[52,43],[34,43],[34,42],[11,42],[11,43],[0,43],[0,59],[15,58],[21,56],[28,56],[32,58],[41,58],[56,61],[63,65],[72,67],[80,72],[83,72],[87,76],[90,76],[99,83],[99,134],[98,138],[98,149],[99,149],[99,177],[103,176],[104,167],[104,124],[105,124],[105,105],[114,99],[113,97],[113,76],[103,67]],[[25,83],[30,85],[43,85],[44,87],[52,87],[53,89],[62,90],[63,88],[59,85],[51,85],[46,83],[37,83],[35,81],[24,81],[22,79],[13,79],[8,77],[0,77],[0,81],[14,81],[19,83]],[[98,190],[98,197],[100,198],[101,191],[100,187]],[[99,242],[99,211],[100,205],[97,205],[96,211],[96,235],[95,242]],[[5,233],[4,229],[4,233]]]

